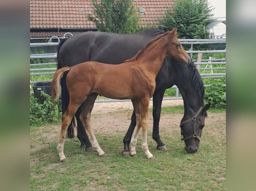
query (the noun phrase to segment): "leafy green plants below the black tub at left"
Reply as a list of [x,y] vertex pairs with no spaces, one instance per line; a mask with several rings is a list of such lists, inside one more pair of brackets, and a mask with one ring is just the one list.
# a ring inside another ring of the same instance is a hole
[[58,100],[52,101],[51,96],[41,91],[43,98],[37,99],[30,95],[30,125],[43,124],[47,122],[57,122],[61,118],[61,108],[58,106]]

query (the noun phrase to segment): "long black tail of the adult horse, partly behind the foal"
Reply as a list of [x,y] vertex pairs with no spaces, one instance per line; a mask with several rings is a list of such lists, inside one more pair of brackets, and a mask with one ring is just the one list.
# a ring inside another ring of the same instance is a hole
[[[68,38],[64,38],[59,42],[59,45],[57,47],[57,69],[61,69],[61,63],[59,61],[59,49],[60,47],[68,40]],[[60,79],[60,86],[61,86],[61,100],[59,102],[59,105],[61,104],[61,111],[62,114],[65,113],[69,106],[69,92],[66,86],[66,74],[63,75],[63,77]],[[71,124],[69,125],[67,129],[67,137],[68,138],[74,138],[75,137],[75,117],[72,118]]]

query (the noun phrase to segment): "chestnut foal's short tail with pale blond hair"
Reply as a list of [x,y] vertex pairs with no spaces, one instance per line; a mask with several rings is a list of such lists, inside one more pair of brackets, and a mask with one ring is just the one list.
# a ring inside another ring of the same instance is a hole
[[64,67],[61,69],[58,69],[54,75],[53,79],[51,81],[51,98],[53,101],[55,101],[57,98],[61,95],[61,86],[60,86],[60,79],[63,77],[64,72],[69,71],[70,67]]

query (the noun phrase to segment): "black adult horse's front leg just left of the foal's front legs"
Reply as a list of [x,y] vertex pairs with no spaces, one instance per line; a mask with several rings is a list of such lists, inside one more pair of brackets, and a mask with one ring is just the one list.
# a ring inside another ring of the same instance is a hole
[[131,142],[132,133],[134,131],[135,126],[136,126],[136,116],[135,116],[135,112],[133,111],[132,117],[131,117],[131,124],[123,140],[123,143],[124,143],[124,150],[122,151],[123,156],[130,156],[131,154],[130,142]]

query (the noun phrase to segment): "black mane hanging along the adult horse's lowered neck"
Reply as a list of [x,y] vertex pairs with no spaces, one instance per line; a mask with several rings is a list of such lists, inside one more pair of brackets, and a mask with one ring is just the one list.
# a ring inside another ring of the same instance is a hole
[[199,95],[202,106],[204,106],[205,87],[194,61],[191,61],[191,63],[185,67],[185,70],[187,77],[192,81]]

